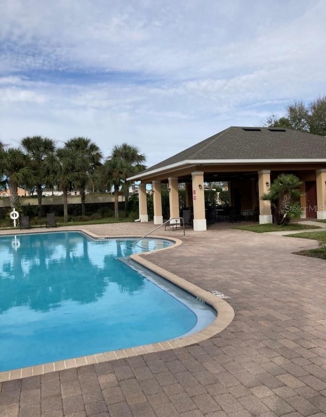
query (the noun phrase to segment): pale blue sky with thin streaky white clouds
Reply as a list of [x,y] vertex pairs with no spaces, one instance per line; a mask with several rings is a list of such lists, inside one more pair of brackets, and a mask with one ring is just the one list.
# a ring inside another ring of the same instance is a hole
[[325,0],[0,0],[0,141],[156,164],[326,94]]

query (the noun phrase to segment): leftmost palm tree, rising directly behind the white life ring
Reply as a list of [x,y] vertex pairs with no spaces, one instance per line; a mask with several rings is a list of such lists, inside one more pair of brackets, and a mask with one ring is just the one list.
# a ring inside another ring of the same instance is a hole
[[0,153],[1,174],[5,176],[3,181],[9,186],[10,205],[12,208],[20,206],[18,186],[34,181],[30,159],[19,147],[10,147]]

